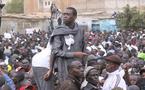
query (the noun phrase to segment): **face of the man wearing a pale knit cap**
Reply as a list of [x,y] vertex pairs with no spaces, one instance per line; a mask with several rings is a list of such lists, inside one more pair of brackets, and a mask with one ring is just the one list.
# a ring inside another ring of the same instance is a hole
[[96,85],[99,82],[98,76],[98,71],[96,69],[92,69],[88,73],[87,81],[93,85]]

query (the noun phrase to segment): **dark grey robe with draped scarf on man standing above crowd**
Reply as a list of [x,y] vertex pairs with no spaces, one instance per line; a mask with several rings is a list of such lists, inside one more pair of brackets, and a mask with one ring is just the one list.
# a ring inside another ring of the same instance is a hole
[[[71,45],[70,49],[68,49],[64,38],[69,34],[74,37],[74,44]],[[75,58],[73,52],[85,51],[84,29],[77,24],[74,29],[70,29],[65,25],[59,26],[53,31],[50,42],[52,44],[52,53],[56,56],[55,66],[58,69],[58,79],[59,81],[65,80],[68,75],[67,66],[74,60],[83,61]]]

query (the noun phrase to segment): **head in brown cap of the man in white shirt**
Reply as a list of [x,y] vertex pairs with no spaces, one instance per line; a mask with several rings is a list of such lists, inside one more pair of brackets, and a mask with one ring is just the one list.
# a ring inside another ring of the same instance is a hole
[[117,70],[121,64],[121,58],[118,55],[111,55],[105,58],[106,60],[106,71],[111,73]]

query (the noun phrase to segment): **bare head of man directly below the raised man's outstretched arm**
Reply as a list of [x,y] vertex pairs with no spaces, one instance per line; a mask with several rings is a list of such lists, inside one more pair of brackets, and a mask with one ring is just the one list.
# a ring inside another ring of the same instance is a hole
[[68,65],[68,72],[70,75],[80,78],[83,77],[83,66],[80,61],[73,61],[70,65]]

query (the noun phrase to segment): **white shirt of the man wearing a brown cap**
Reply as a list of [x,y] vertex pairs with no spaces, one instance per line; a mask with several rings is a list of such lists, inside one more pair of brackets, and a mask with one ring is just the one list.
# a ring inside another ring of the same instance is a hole
[[[114,87],[123,88],[123,90],[127,90],[127,85],[125,80],[123,79],[124,70],[116,70],[112,73],[108,73],[108,78],[106,79],[102,90],[112,90]],[[118,85],[116,86],[116,83]]]

